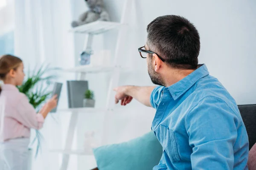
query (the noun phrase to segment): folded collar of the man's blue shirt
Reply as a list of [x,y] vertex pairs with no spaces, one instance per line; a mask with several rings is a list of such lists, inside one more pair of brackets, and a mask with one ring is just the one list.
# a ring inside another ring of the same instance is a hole
[[193,71],[191,74],[168,87],[174,100],[184,94],[189,88],[192,87],[199,79],[209,75],[209,71],[205,64],[199,65],[200,67]]

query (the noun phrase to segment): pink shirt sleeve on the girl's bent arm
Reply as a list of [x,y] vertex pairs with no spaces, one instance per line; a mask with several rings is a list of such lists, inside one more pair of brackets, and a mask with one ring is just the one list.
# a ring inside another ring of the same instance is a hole
[[26,127],[41,129],[44,124],[44,117],[41,113],[36,113],[28,98],[22,94],[17,102],[17,112],[14,118]]

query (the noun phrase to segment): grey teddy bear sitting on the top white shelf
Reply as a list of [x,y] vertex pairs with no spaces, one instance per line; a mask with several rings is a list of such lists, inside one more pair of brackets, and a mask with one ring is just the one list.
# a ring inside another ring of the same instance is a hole
[[78,21],[71,23],[72,27],[81,26],[94,21],[109,21],[108,12],[104,8],[103,0],[84,0],[89,10],[79,16]]

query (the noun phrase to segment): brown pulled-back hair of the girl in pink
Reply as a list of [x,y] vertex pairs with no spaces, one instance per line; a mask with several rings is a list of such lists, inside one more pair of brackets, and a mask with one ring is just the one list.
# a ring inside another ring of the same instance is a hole
[[[10,70],[16,70],[22,60],[18,57],[6,54],[0,57],[0,80],[4,80]],[[0,87],[0,93],[2,89]]]

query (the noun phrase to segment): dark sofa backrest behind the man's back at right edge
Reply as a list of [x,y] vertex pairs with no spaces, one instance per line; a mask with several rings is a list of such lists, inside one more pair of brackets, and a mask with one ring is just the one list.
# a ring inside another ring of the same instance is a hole
[[238,105],[249,138],[249,149],[256,143],[256,105]]

